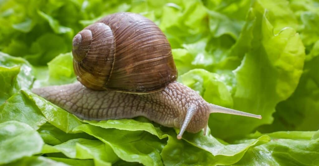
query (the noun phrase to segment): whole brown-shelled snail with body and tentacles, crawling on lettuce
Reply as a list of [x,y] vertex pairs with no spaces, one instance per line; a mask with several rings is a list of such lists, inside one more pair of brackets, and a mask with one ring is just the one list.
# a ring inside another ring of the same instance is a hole
[[[163,126],[197,133],[219,112],[261,119],[206,102],[176,82],[167,38],[151,20],[134,13],[108,15],[73,38],[77,83],[32,91],[87,120],[145,116]],[[204,132],[205,134],[205,132]]]

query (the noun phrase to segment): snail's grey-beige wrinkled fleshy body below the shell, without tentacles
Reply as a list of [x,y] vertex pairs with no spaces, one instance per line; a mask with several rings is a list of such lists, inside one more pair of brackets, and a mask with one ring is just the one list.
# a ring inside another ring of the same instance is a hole
[[181,128],[188,108],[193,106],[195,112],[186,131],[197,133],[206,127],[210,114],[209,103],[194,90],[176,81],[162,91],[147,94],[95,91],[79,82],[32,91],[86,120],[144,116],[163,126]]

